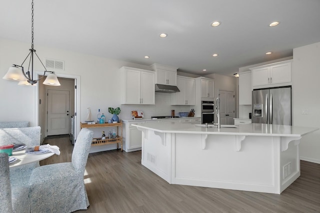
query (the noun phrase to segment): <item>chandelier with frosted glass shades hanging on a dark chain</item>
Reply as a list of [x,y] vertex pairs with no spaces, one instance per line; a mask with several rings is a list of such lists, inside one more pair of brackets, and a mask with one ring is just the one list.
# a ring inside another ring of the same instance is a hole
[[[29,49],[30,52],[25,57],[25,59],[23,60],[21,65],[13,64],[2,78],[6,79],[6,80],[18,80],[18,81],[20,81],[18,83],[18,85],[33,85],[33,84],[37,83],[37,81],[40,80],[45,75],[46,72],[50,72],[48,74],[48,76],[46,77],[46,79],[44,80],[43,84],[59,86],[60,83],[58,81],[58,78],[54,74],[54,72],[46,70],[46,68],[43,65],[42,61],[40,60],[39,56],[36,54],[35,49],[33,48],[34,47],[34,44],[33,44],[33,5],[34,5],[34,3],[32,0],[32,3],[31,3],[31,48]],[[33,79],[33,56],[34,55],[39,59],[39,61],[41,62],[42,66],[44,68],[44,73],[39,79]],[[22,65],[27,58],[29,58],[28,59],[29,65],[28,65],[27,71],[24,72]]]

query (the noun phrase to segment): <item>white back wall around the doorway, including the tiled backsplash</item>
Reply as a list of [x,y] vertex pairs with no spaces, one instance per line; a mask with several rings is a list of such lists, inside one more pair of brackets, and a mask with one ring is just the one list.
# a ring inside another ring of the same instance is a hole
[[[18,65],[22,63],[28,54],[29,45],[29,43],[0,39],[0,76],[4,76],[13,63]],[[98,108],[104,112],[106,117],[110,117],[107,108],[120,106],[122,110],[119,115],[120,119],[130,117],[130,111],[133,109],[144,110],[145,116],[150,117],[170,115],[171,109],[175,109],[177,114],[179,111],[188,111],[192,108],[171,106],[169,94],[158,92],[155,94],[155,105],[120,105],[119,68],[131,66],[149,69],[149,66],[45,46],[35,45],[35,49],[42,62],[44,58],[64,60],[64,70],[56,71],[57,74],[80,76],[78,121],[85,120],[87,107],[90,107],[94,118]],[[27,66],[27,63],[23,65]],[[34,69],[40,71],[43,70],[43,67],[37,62]],[[31,126],[38,125],[35,110],[38,104],[36,100],[38,85],[18,86],[16,81],[0,78],[0,120],[27,120]]]

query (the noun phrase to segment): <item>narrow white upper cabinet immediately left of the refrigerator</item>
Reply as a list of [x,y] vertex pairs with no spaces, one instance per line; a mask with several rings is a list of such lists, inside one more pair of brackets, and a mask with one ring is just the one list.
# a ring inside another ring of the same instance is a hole
[[239,73],[239,105],[251,105],[251,71]]

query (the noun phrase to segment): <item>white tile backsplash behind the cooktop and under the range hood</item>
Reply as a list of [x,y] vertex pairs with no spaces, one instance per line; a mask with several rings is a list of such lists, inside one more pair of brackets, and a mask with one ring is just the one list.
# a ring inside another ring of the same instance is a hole
[[192,105],[170,105],[170,93],[155,92],[154,105],[121,104],[120,119],[130,119],[132,110],[143,111],[144,117],[171,115],[171,110],[175,110],[175,116],[179,116],[179,111],[190,111]]

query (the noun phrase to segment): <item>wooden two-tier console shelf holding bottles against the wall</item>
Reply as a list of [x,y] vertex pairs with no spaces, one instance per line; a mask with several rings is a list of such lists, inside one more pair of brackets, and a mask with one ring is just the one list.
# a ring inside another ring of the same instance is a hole
[[[116,143],[116,148],[119,148],[119,143],[121,144],[122,151],[122,122],[117,123],[95,123],[95,124],[87,124],[80,122],[81,128],[103,128],[103,127],[116,127],[117,136],[115,138],[106,138],[101,139],[101,137],[93,138],[91,145],[106,145]],[[119,134],[119,128],[121,128],[121,133]]]

